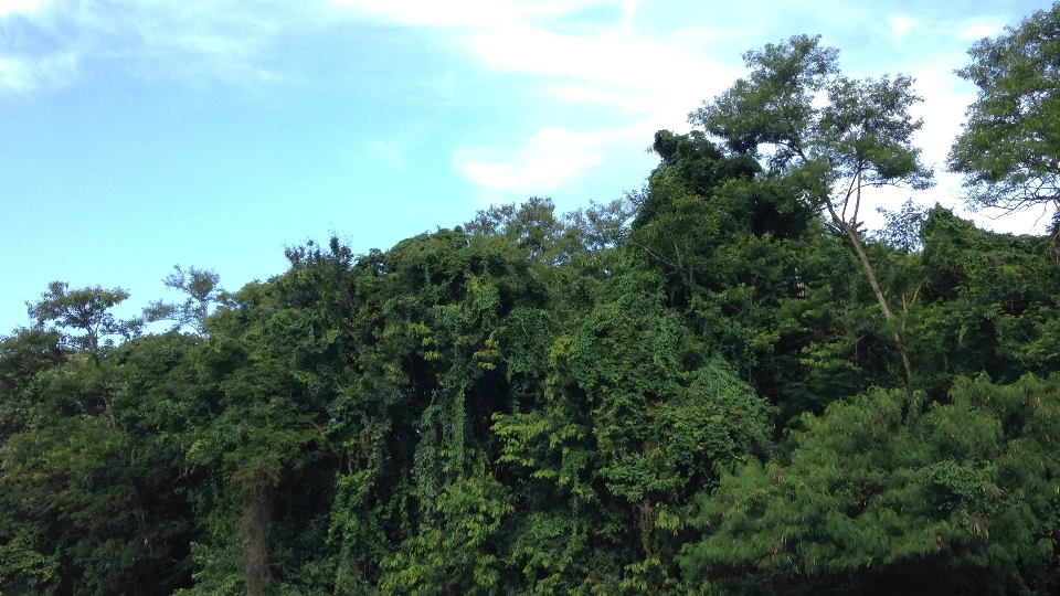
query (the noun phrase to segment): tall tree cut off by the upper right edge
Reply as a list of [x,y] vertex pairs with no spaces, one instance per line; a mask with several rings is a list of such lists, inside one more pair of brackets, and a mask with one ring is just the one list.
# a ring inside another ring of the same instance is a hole
[[957,75],[979,87],[946,161],[972,206],[1060,202],[1060,3],[968,50]]

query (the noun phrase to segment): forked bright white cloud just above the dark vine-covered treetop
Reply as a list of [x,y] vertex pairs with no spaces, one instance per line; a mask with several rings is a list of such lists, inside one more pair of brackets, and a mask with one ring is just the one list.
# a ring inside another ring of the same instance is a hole
[[499,26],[466,35],[463,43],[491,71],[529,75],[543,97],[616,114],[611,128],[548,127],[516,147],[457,150],[457,171],[487,195],[561,190],[607,161],[608,150],[640,149],[659,128],[686,127],[686,114],[738,75],[621,24],[580,34]]

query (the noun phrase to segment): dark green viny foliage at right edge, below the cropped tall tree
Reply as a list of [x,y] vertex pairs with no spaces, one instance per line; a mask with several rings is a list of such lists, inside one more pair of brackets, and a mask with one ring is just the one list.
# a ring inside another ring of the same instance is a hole
[[908,328],[925,389],[981,371],[1006,383],[1056,371],[1060,276],[1047,241],[983,232],[940,207],[922,236],[923,302]]

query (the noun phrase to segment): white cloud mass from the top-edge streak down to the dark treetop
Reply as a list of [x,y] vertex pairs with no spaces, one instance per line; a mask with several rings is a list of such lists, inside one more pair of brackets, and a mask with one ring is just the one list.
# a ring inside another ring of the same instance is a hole
[[[622,115],[613,129],[550,126],[515,146],[456,149],[454,169],[494,199],[562,190],[608,153],[642,150],[659,128],[686,128],[688,111],[739,75],[707,57],[727,31],[700,26],[655,38],[634,24],[639,0],[331,1],[359,19],[459,29],[451,42],[487,68],[530,75],[538,95],[561,104]],[[610,22],[559,25],[606,7],[616,9]]]

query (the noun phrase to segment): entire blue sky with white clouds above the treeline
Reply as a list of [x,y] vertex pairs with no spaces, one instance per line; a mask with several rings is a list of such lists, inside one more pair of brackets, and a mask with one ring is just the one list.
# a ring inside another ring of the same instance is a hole
[[[0,333],[52,280],[177,300],[174,265],[234,290],[286,246],[357,253],[549,196],[637,190],[658,129],[820,34],[849,76],[905,73],[939,184],[978,39],[1048,2],[892,0],[0,0]],[[989,219],[1041,231],[1040,213]],[[869,213],[871,227],[872,213]]]

